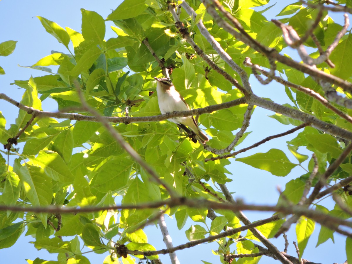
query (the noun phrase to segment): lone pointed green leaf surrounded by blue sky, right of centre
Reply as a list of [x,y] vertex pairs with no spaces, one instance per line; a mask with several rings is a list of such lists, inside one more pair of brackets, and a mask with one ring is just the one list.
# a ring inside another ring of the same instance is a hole
[[286,176],[297,166],[297,164],[291,163],[285,153],[279,149],[271,149],[266,153],[256,153],[249,157],[237,158],[236,161],[269,171],[275,176]]

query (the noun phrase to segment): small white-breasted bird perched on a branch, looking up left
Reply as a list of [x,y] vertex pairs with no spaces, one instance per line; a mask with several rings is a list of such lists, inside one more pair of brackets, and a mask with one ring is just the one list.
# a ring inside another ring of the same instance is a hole
[[[174,84],[168,78],[157,78],[156,91],[158,94],[159,108],[162,114],[172,113],[174,111],[187,111],[189,106],[182,96],[175,90]],[[200,131],[194,117],[174,117],[169,119],[171,122],[177,124],[189,135],[192,132],[186,127],[188,126],[197,136],[197,139],[203,144],[208,141],[208,137]]]

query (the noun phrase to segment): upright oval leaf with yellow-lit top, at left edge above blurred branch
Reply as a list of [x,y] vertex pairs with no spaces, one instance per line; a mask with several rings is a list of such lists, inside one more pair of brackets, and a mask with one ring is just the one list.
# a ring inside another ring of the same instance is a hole
[[[2,201],[5,205],[14,205],[20,197],[20,179],[13,171],[6,173],[5,186],[2,192]],[[1,235],[0,235],[1,239]]]

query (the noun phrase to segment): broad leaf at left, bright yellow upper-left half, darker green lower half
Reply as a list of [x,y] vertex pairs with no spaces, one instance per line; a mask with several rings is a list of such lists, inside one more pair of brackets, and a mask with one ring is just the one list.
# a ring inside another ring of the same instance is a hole
[[36,158],[29,157],[31,162],[44,169],[46,175],[62,184],[73,183],[74,176],[58,153],[50,150],[40,151]]

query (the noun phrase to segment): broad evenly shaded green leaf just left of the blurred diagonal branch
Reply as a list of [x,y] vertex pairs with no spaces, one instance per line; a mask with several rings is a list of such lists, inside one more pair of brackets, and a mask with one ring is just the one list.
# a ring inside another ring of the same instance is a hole
[[90,185],[102,193],[124,187],[133,163],[127,158],[110,159],[99,168]]

